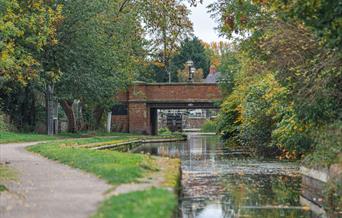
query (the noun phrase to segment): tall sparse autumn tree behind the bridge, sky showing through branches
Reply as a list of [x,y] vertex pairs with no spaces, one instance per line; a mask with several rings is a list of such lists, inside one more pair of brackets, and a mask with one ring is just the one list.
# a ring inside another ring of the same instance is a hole
[[192,35],[190,11],[176,0],[142,1],[141,16],[149,40],[150,69],[155,69],[157,81],[167,81],[170,60],[181,42]]

